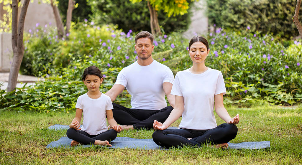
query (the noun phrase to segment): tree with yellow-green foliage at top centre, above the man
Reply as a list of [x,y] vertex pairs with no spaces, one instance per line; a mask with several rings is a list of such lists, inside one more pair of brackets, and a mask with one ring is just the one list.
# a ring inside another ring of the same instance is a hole
[[[142,0],[130,0],[132,3],[138,3]],[[189,3],[187,0],[146,0],[148,1],[148,8],[150,12],[150,28],[151,33],[153,35],[160,35],[161,30],[158,23],[158,15],[157,11],[162,10],[165,13],[167,13],[168,17],[171,17],[172,15],[183,15],[185,13],[188,13],[189,9]],[[194,0],[191,0],[193,2]],[[197,0],[198,1],[198,0]]]

